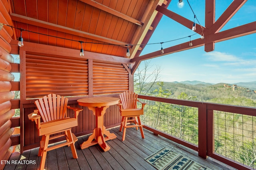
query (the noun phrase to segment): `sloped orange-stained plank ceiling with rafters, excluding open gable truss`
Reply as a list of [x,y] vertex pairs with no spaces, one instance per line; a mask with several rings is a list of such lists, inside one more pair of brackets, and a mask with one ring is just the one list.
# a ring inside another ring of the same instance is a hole
[[[14,27],[27,42],[126,57],[127,45],[148,41],[166,0],[10,0]],[[14,39],[20,37],[15,30]],[[42,33],[45,35],[40,35]],[[47,36],[50,35],[50,36]],[[56,38],[60,37],[60,38]],[[70,39],[70,40],[67,40]],[[73,41],[72,41],[73,40]],[[114,44],[114,45],[110,45]],[[138,57],[142,46],[129,46]]]

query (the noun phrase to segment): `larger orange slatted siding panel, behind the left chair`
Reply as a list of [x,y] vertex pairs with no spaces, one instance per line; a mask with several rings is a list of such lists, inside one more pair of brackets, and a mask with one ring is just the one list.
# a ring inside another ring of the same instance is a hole
[[26,98],[88,95],[88,61],[26,52]]

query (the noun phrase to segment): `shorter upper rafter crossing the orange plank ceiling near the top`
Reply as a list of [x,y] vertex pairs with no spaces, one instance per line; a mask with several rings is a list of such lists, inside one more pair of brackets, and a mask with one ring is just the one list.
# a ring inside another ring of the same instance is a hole
[[137,25],[142,26],[144,24],[141,21],[138,21],[138,20],[136,20],[136,19],[134,19],[132,17],[129,17],[129,16],[125,15],[125,14],[122,14],[121,12],[113,10],[112,8],[104,6],[104,5],[98,3],[98,2],[96,2],[94,0],[80,0],[80,1],[82,1],[82,2],[84,2],[86,4],[88,4],[88,5],[91,5],[91,6],[95,7],[95,8],[98,8],[100,10],[103,10],[105,12],[108,12],[108,13],[114,15],[114,16],[118,16],[119,18],[122,18],[124,20],[130,21],[132,23],[136,23]]

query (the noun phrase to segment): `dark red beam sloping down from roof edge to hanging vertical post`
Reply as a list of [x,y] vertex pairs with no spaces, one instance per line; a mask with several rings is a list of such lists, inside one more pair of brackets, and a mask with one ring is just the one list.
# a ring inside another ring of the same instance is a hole
[[[165,16],[168,16],[172,20],[177,21],[178,23],[184,25],[185,27],[187,27],[189,29],[191,29],[191,27],[193,25],[193,21],[190,21],[190,20],[188,20],[188,19],[186,19],[186,18],[184,18],[184,17],[182,17],[182,16],[180,16],[180,15],[178,15],[178,14],[176,14],[176,13],[174,13],[174,12],[164,8],[164,7],[162,7],[162,6],[157,6],[156,10],[158,12],[161,12]],[[201,25],[200,25],[200,27],[202,27],[203,29],[206,29],[205,27],[203,27]],[[196,29],[195,32],[201,34],[202,33],[202,29]]]

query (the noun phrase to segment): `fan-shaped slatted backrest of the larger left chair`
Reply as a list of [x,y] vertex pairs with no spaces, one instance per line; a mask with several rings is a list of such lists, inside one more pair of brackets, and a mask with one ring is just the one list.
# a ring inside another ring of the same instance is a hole
[[35,104],[44,122],[66,117],[68,98],[64,96],[48,94],[36,100]]

